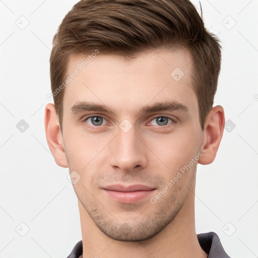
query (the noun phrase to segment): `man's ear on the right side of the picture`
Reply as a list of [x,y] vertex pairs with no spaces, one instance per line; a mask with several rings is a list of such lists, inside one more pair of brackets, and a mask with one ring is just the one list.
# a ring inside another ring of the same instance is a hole
[[202,157],[199,163],[203,165],[210,164],[214,161],[225,126],[225,115],[222,106],[215,106],[209,112],[203,132],[203,140],[201,146]]

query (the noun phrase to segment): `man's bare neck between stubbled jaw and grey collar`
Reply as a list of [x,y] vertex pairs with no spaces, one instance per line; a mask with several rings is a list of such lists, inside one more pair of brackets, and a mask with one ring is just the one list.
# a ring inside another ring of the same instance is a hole
[[78,201],[83,258],[153,258],[153,257],[192,257],[207,258],[201,248],[195,229],[195,193],[189,195],[174,220],[154,237],[137,242],[117,241],[109,238],[94,224]]

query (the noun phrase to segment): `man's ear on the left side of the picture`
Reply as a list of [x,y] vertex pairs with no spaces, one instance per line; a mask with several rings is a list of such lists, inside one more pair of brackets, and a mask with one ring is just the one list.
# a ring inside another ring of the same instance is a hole
[[60,167],[68,167],[59,119],[52,103],[48,103],[45,107],[45,132],[48,147],[56,164]]

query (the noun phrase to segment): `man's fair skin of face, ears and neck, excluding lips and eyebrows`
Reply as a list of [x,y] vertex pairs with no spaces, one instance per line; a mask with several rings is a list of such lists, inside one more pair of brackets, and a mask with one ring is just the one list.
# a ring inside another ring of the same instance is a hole
[[[83,60],[85,56],[71,55],[68,75]],[[184,73],[179,81],[170,75],[175,68]],[[156,49],[131,60],[99,53],[65,88],[62,133],[54,105],[47,104],[45,131],[50,151],[59,166],[80,175],[73,186],[84,258],[208,257],[195,229],[196,170],[197,163],[210,164],[215,159],[225,118],[221,106],[213,107],[202,131],[191,69],[191,54],[185,48]],[[81,101],[104,104],[115,114],[74,113],[71,108]],[[188,112],[139,112],[146,105],[166,101],[181,103]],[[102,124],[86,119],[90,115],[103,117]],[[165,125],[156,119],[160,116]],[[124,119],[132,126],[128,132],[119,127]],[[196,156],[198,162],[151,203]],[[136,203],[121,203],[102,189],[118,183],[155,189]]]

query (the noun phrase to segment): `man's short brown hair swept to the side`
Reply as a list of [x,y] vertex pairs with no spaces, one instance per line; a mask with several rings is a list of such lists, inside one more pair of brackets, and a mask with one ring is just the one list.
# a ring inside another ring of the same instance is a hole
[[[64,17],[50,55],[52,93],[67,77],[71,54],[133,57],[145,50],[187,47],[193,61],[193,89],[202,130],[213,106],[221,66],[219,39],[206,30],[188,0],[82,0]],[[64,90],[54,94],[62,130]]]

